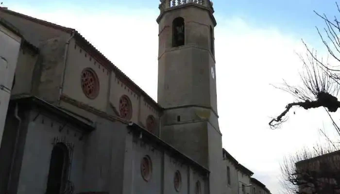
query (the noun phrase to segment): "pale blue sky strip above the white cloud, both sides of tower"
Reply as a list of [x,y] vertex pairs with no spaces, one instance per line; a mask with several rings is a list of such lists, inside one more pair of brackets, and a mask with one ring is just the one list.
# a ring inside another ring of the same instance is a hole
[[[77,7],[89,13],[111,10],[117,7],[131,9],[157,9],[159,0],[3,0],[4,5],[22,4],[39,9]],[[335,0],[214,0],[218,16],[238,16],[256,26],[271,26],[282,32],[292,33],[308,40],[316,37],[315,26],[322,26],[313,10],[334,16],[337,13]],[[80,6],[81,5],[81,6]]]

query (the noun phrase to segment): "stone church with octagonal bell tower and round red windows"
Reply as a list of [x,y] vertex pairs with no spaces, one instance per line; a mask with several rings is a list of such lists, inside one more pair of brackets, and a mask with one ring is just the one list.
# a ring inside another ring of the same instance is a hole
[[75,29],[0,7],[20,43],[0,66],[0,194],[231,194],[213,3],[160,1],[157,102]]

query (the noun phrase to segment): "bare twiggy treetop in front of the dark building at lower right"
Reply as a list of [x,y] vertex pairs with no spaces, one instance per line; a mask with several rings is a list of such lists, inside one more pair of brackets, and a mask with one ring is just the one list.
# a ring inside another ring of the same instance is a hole
[[304,148],[284,159],[281,185],[285,194],[339,194],[340,152],[332,144]]

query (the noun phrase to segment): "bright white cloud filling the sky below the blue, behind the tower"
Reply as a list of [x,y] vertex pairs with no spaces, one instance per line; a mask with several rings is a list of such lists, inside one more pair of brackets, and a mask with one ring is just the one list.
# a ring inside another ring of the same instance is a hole
[[[60,25],[76,28],[97,49],[144,89],[157,96],[158,10],[124,8],[104,12],[42,11],[13,8]],[[319,138],[323,110],[295,108],[296,114],[281,129],[270,130],[270,116],[284,110],[293,98],[270,84],[287,79],[299,82],[301,62],[296,51],[303,51],[301,37],[282,34],[275,28],[258,29],[234,17],[217,16],[216,74],[218,112],[223,146],[242,164],[255,172],[272,191],[278,193],[279,162],[283,155]],[[329,129],[331,132],[332,129]]]

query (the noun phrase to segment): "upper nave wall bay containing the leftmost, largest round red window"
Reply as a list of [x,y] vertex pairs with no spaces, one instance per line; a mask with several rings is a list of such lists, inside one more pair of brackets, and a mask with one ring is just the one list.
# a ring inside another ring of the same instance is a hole
[[71,39],[62,93],[100,111],[106,111],[110,70],[86,47]]

